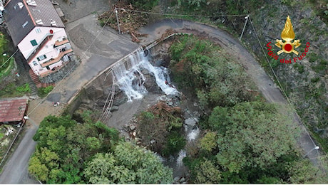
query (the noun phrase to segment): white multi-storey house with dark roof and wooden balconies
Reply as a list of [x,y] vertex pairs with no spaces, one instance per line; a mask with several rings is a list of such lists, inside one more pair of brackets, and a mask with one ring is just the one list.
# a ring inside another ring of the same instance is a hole
[[65,26],[49,0],[9,0],[3,14],[14,45],[36,75],[56,71],[73,55]]

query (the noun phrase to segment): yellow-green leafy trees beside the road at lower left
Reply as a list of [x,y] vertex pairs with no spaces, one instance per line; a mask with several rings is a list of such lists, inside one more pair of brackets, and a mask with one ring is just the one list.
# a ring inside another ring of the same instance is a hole
[[[85,117],[83,117],[85,118]],[[119,140],[118,131],[87,119],[77,124],[70,117],[46,117],[40,124],[36,152],[29,171],[48,184],[80,184],[85,162],[98,152],[110,152]]]

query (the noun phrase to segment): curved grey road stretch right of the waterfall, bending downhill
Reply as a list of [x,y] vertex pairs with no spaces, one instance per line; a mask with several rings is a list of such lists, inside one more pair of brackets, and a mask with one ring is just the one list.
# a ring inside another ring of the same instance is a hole
[[[265,73],[265,70],[260,66],[255,58],[247,51],[245,47],[240,44],[236,38],[233,38],[225,31],[222,31],[212,26],[206,26],[201,23],[193,23],[190,21],[164,19],[158,21],[150,26],[140,28],[140,33],[148,34],[147,38],[143,38],[141,44],[148,45],[155,39],[160,38],[163,33],[169,28],[173,28],[175,31],[184,33],[198,33],[201,36],[207,36],[212,38],[213,41],[217,42],[226,49],[230,55],[235,56],[241,65],[245,68],[246,72],[257,85],[257,88],[262,92],[267,102],[279,103],[287,105],[287,100],[282,95],[280,88],[275,85],[272,79]],[[261,52],[261,51],[259,51]],[[307,132],[307,129],[303,127],[302,122],[299,120],[297,113],[293,113],[292,119],[294,124],[300,127],[301,135],[297,139],[299,147],[302,149],[303,154],[307,154],[307,157],[314,163],[318,164],[317,157],[319,157],[320,150],[314,149],[316,146],[311,137]]]

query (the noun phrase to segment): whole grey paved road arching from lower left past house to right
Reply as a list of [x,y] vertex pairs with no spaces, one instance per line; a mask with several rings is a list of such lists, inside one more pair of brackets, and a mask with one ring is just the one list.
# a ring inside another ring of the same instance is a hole
[[[118,36],[111,29],[106,28],[101,31],[101,28],[94,24],[96,18],[93,15],[86,16],[68,24],[67,31],[70,36],[74,51],[81,56],[82,63],[78,68],[66,79],[62,80],[61,84],[55,90],[56,95],[59,95],[61,102],[68,102],[68,100],[83,87],[88,80],[111,65],[119,58],[138,48],[135,43],[130,43],[130,38],[125,36]],[[208,37],[216,38],[215,41],[239,58],[240,63],[245,66],[245,70],[255,81],[262,94],[268,102],[277,102],[287,104],[285,97],[282,96],[279,88],[277,88],[265,71],[260,67],[257,61],[242,47],[239,41],[232,38],[225,31],[221,31],[210,26],[205,26],[199,23],[192,23],[190,21],[173,21],[165,19],[153,25],[146,26],[140,29],[140,33],[148,33],[149,36],[145,38],[141,44],[155,41],[156,38],[165,32],[168,28],[174,28],[177,31],[195,33],[195,30],[205,32]],[[101,31],[101,32],[100,32]],[[92,43],[93,39],[100,33],[96,39],[95,46],[87,53],[83,53],[88,49],[88,43]],[[78,46],[78,47],[77,47]],[[270,85],[271,84],[271,85]],[[39,107],[30,117],[32,120],[39,122],[42,117],[38,114],[43,107]],[[58,113],[58,112],[57,112]],[[55,114],[56,115],[56,114]],[[294,114],[294,121],[299,125],[298,117]],[[314,148],[311,139],[303,130],[302,136],[299,138],[299,146],[302,147],[304,153],[307,153]],[[27,184],[26,181],[28,159],[34,151],[35,143],[32,141],[35,128],[27,129],[23,141],[19,144],[9,162],[4,167],[4,172],[0,176],[0,184]],[[312,158],[312,162],[317,163],[317,153],[315,150],[308,154]],[[19,172],[17,172],[19,171]]]

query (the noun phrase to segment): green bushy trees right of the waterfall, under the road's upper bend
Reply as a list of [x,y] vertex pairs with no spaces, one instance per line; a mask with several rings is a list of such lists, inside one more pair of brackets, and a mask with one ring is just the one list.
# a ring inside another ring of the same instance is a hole
[[198,96],[204,107],[233,106],[254,97],[245,71],[214,43],[185,36],[170,47],[173,80]]

